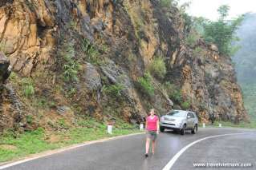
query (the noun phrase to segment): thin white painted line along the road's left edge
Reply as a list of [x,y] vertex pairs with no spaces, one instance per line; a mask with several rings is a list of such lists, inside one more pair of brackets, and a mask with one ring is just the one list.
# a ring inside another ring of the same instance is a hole
[[39,156],[32,156],[30,158],[26,158],[24,160],[18,160],[18,161],[15,161],[13,163],[10,163],[10,164],[7,163],[7,164],[4,164],[2,166],[0,165],[0,170],[4,169],[4,168],[12,167],[12,166],[17,165],[17,164],[22,164],[22,163],[28,162],[30,160],[36,160],[36,159],[39,159],[39,158],[42,158],[42,157],[45,157],[45,156],[51,156],[51,155],[54,155],[55,153],[65,152],[65,151],[68,151],[68,150],[71,150],[71,149],[74,149],[74,148],[83,147],[83,146],[86,146],[86,145],[89,145],[89,144],[96,144],[96,143],[100,143],[100,142],[116,140],[116,139],[120,139],[120,138],[127,137],[127,136],[141,135],[143,133],[144,132],[139,132],[139,133],[133,133],[133,134],[128,134],[128,135],[122,135],[122,136],[114,136],[114,137],[100,139],[100,140],[92,140],[92,141],[87,141],[83,144],[75,144],[75,145],[69,146],[67,148],[60,148],[60,149],[56,149],[56,150],[51,150],[51,151],[43,152],[41,154],[39,153]]

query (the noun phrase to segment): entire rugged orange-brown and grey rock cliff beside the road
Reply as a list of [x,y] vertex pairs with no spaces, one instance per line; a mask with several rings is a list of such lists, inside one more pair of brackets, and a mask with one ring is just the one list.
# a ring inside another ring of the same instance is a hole
[[[9,100],[1,102],[0,130],[51,128],[59,117],[72,125],[84,115],[136,123],[152,107],[171,108],[165,82],[181,89],[201,121],[247,120],[230,59],[203,41],[185,45],[187,34],[181,11],[156,0],[1,1],[1,50],[13,73],[2,91]],[[156,57],[167,73],[152,77],[155,93],[144,97],[136,82]]]

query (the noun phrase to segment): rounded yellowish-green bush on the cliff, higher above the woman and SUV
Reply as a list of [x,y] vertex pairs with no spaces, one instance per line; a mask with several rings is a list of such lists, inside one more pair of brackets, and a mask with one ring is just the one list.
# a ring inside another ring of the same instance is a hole
[[149,65],[149,72],[156,78],[163,79],[166,74],[165,61],[163,57],[156,57]]

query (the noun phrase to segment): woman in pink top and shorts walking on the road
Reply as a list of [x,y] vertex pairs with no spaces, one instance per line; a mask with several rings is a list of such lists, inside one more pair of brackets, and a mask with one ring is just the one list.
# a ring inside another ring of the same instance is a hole
[[148,150],[150,140],[152,140],[152,154],[155,153],[156,136],[159,134],[159,119],[155,115],[155,109],[150,110],[150,115],[146,119],[146,152],[145,156],[148,157]]

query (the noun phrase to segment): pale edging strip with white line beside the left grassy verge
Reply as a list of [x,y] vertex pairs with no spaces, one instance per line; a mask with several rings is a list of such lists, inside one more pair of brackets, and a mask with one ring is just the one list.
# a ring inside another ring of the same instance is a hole
[[120,138],[123,138],[123,137],[136,136],[136,135],[141,135],[141,134],[144,134],[144,132],[136,132],[136,133],[132,133],[132,134],[128,134],[128,135],[121,135],[121,136],[113,136],[113,137],[108,137],[108,138],[104,138],[104,139],[100,139],[100,140],[91,140],[91,141],[83,142],[82,144],[73,144],[71,146],[67,146],[67,147],[64,147],[64,148],[57,148],[57,149],[54,149],[54,150],[48,150],[48,151],[41,152],[41,153],[35,153],[35,154],[30,155],[30,156],[26,156],[25,158],[21,158],[19,160],[10,160],[10,161],[5,162],[5,163],[3,162],[3,163],[0,164],[0,170],[5,169],[5,168],[10,168],[10,167],[12,167],[14,165],[17,165],[17,164],[22,164],[22,163],[28,162],[30,160],[36,160],[36,159],[39,159],[39,158],[42,158],[42,157],[51,156],[51,155],[54,155],[54,154],[57,154],[57,153],[60,153],[60,152],[66,152],[66,151],[69,151],[69,150],[72,150],[72,149],[75,149],[75,148],[80,148],[80,147],[83,147],[83,146],[87,146],[87,145],[90,145],[90,144],[97,144],[97,143],[101,143],[101,142],[117,140],[117,139],[120,139]]

